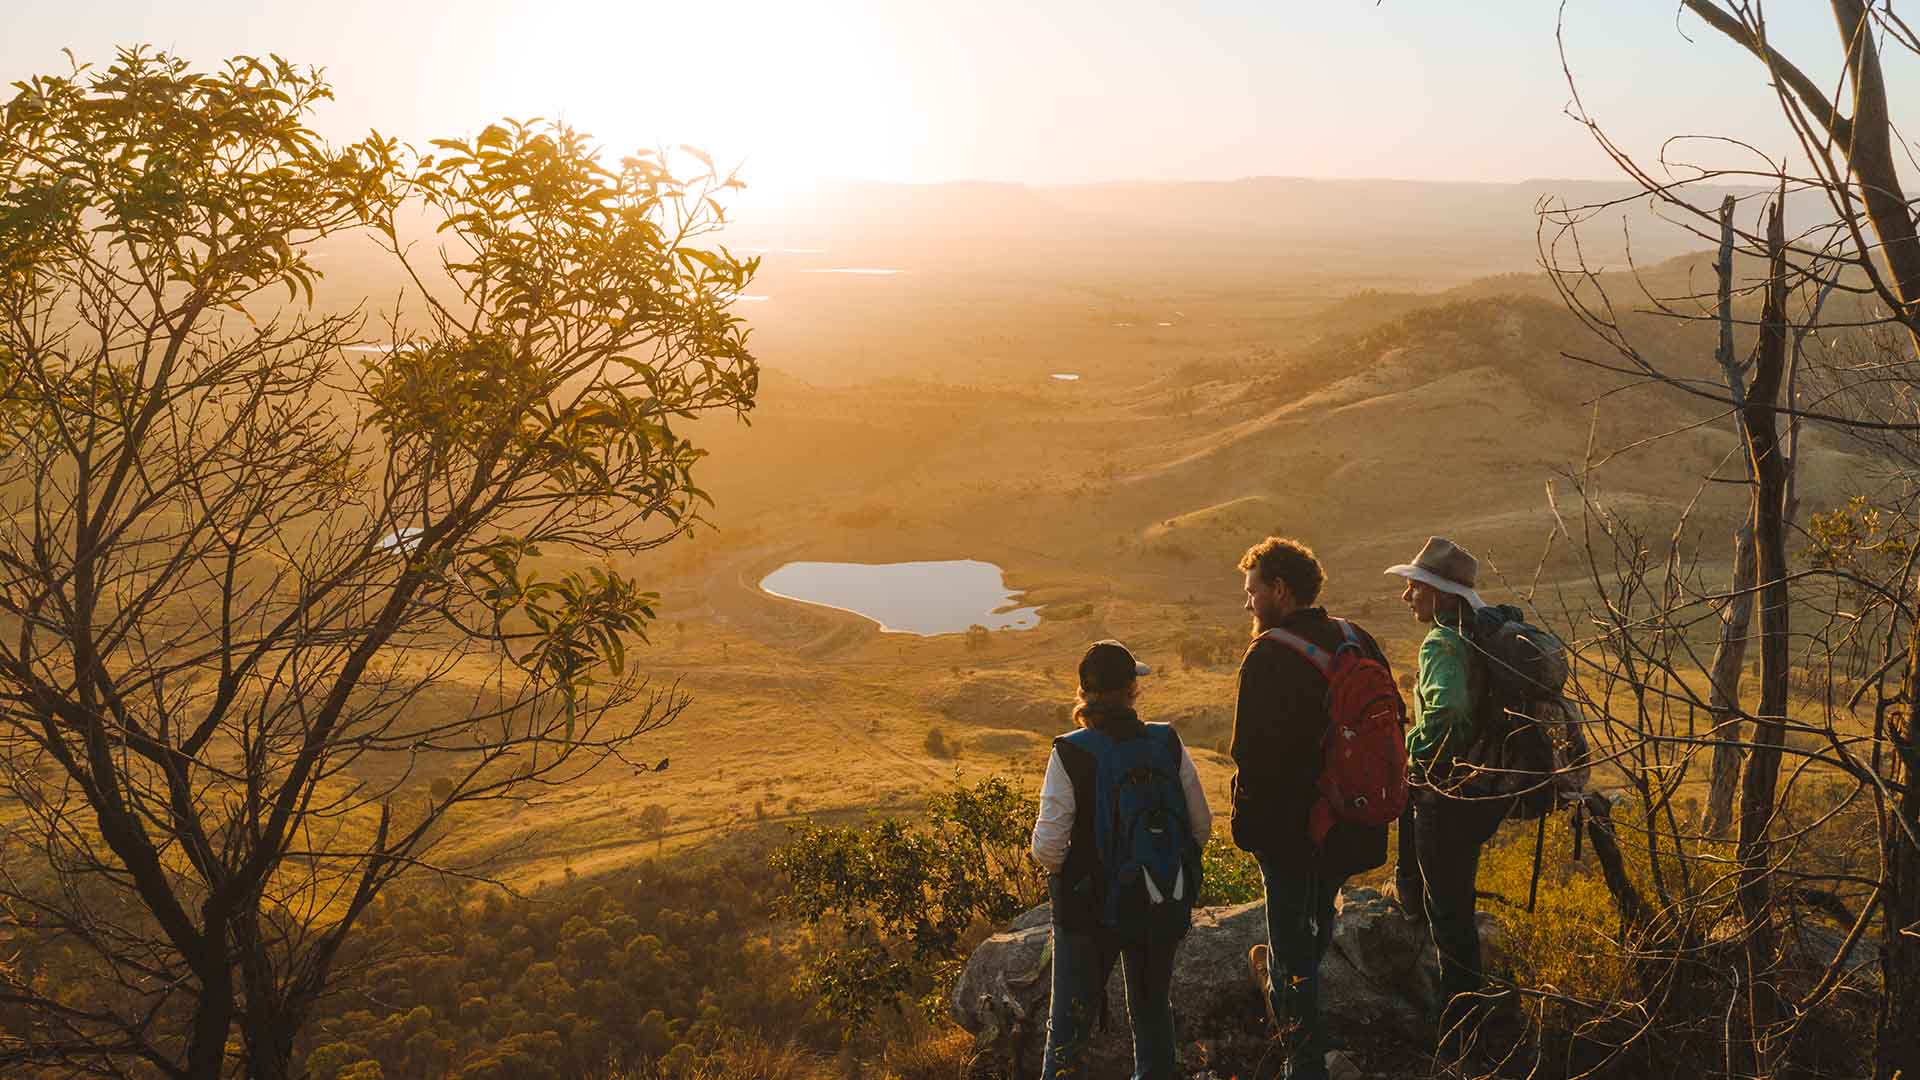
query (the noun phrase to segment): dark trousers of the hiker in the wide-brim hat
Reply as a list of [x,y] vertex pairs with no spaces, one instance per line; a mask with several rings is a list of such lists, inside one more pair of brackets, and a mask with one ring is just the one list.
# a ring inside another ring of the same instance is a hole
[[1480,847],[1500,828],[1505,803],[1452,799],[1415,792],[1400,817],[1394,863],[1402,903],[1421,903],[1440,955],[1440,1024],[1452,1026],[1448,1003],[1482,986],[1480,926],[1475,922],[1475,878]]

